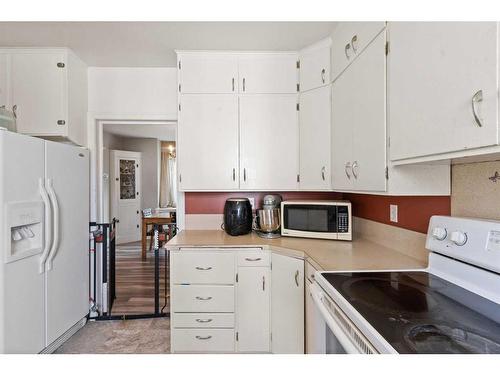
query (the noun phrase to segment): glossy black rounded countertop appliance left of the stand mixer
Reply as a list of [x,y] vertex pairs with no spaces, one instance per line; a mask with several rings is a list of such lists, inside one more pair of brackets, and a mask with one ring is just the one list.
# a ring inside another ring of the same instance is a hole
[[224,204],[224,230],[231,236],[252,231],[252,205],[248,198],[229,198]]

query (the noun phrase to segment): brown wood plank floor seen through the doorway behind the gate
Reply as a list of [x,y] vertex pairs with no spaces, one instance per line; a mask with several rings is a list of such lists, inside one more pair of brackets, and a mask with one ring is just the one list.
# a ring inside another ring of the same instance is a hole
[[[160,309],[166,304],[165,250],[160,249]],[[164,312],[169,311],[166,306]],[[141,243],[116,246],[116,299],[112,315],[154,313],[154,252],[141,260]]]

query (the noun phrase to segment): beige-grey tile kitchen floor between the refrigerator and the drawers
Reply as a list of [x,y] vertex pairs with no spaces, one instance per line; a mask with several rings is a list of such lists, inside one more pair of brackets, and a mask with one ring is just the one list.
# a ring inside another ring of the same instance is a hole
[[56,354],[170,353],[170,319],[89,321]]

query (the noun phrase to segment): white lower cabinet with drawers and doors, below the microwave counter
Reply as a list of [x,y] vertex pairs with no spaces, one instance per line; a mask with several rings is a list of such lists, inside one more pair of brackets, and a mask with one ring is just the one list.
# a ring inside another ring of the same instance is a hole
[[206,249],[171,251],[172,352],[304,353],[304,261],[256,248]]

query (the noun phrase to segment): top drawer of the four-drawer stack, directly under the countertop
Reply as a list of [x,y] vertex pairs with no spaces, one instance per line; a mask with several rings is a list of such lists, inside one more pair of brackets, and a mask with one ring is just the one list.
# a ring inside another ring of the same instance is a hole
[[234,252],[181,250],[171,255],[174,284],[234,284]]

